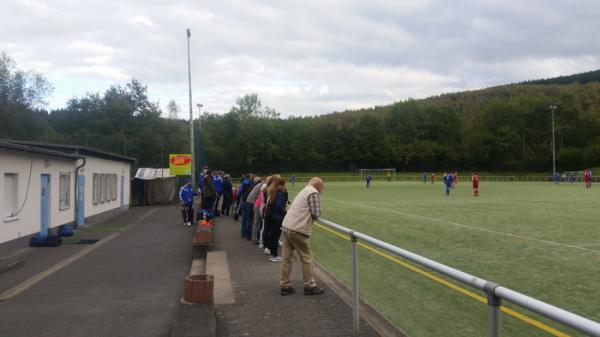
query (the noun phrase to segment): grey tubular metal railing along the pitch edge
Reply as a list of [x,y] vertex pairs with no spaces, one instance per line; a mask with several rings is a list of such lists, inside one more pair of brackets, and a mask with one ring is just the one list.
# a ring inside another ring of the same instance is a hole
[[442,275],[452,278],[462,284],[469,285],[483,291],[487,296],[488,305],[488,337],[500,337],[500,306],[502,300],[516,304],[522,308],[542,315],[550,320],[564,324],[589,336],[600,337],[600,323],[579,316],[551,304],[542,302],[533,297],[521,294],[512,289],[503,287],[494,282],[473,276],[458,269],[446,266],[426,257],[417,255],[408,250],[399,248],[385,241],[369,235],[354,231],[326,219],[317,221],[338,232],[348,235],[352,246],[352,317],[354,334],[359,332],[359,295],[358,295],[358,253],[357,242],[364,241],[373,247],[380,248],[396,256],[404,258],[420,266],[434,270]]

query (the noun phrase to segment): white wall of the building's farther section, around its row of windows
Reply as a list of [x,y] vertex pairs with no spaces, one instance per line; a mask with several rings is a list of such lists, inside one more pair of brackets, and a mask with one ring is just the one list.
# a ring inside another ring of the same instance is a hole
[[[121,176],[125,178],[123,204],[125,208],[129,208],[131,190],[131,165],[129,163],[88,156],[85,166],[79,170],[79,173],[85,175],[86,218],[121,206]],[[94,203],[94,174],[117,175],[117,198],[115,200]]]

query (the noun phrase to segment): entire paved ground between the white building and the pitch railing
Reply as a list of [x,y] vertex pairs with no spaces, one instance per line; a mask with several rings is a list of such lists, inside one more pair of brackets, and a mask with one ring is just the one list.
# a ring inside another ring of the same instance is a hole
[[[193,232],[193,227],[181,226],[177,206],[138,207],[77,231],[75,239],[101,239],[96,244],[0,246],[0,257],[25,262],[0,274],[0,336],[353,335],[351,309],[331,289],[321,284],[324,295],[302,294],[297,262],[297,292],[281,296],[280,263],[240,239],[240,223],[228,217],[216,219],[212,251],[227,256],[235,303],[180,304],[183,279],[195,255]],[[361,336],[376,336],[364,321]]]

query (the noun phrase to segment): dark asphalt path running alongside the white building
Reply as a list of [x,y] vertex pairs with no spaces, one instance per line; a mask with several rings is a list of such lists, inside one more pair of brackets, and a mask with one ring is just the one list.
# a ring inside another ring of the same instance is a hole
[[[95,225],[127,227],[86,232],[116,236],[0,303],[0,336],[171,336],[182,317],[201,323],[202,309],[182,310],[179,303],[193,256],[193,228],[182,227],[179,214],[176,206],[140,207]],[[88,245],[27,250],[23,268],[0,276],[0,292],[86,249],[81,246]],[[212,308],[204,315],[214,321]]]

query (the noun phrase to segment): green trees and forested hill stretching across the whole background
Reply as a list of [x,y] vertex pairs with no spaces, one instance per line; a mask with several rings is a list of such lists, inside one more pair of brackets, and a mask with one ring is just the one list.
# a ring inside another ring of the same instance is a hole
[[[39,107],[50,83],[0,56],[0,138],[87,145],[137,158],[141,167],[164,167],[169,153],[189,151],[186,121],[161,117],[140,82],[47,112]],[[598,72],[316,117],[281,118],[256,95],[245,95],[225,114],[205,113],[201,130],[196,121],[197,165],[233,174],[390,167],[548,172],[549,106],[556,105],[558,169],[600,166],[600,82],[593,76]]]

